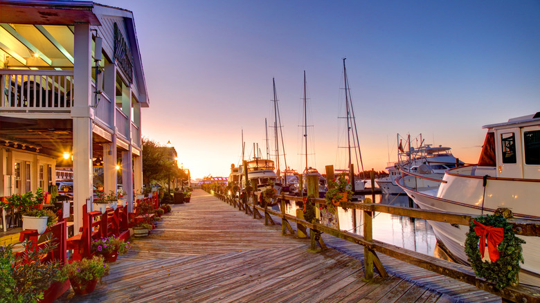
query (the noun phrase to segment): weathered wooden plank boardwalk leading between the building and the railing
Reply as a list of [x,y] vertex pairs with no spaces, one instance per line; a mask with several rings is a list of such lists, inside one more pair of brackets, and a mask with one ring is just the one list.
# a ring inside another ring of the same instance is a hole
[[[150,237],[111,264],[96,291],[59,302],[501,302],[468,284],[380,255],[390,277],[363,279],[363,247],[282,236],[202,190],[172,205]],[[279,220],[276,220],[279,222]],[[294,224],[293,224],[294,225]]]

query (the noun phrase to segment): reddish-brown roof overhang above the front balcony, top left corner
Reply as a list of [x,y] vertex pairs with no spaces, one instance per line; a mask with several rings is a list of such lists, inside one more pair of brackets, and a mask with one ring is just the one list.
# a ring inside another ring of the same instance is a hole
[[0,20],[12,24],[73,25],[77,22],[99,26],[91,1],[0,0]]

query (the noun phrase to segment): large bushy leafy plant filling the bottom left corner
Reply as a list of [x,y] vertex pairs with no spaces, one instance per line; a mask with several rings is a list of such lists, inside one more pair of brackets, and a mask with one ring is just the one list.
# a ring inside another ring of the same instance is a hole
[[[26,250],[32,246],[31,241],[24,241],[23,246]],[[61,275],[62,263],[41,261],[54,247],[48,241],[42,248],[28,249],[17,256],[12,245],[0,246],[0,302],[51,302],[63,293],[47,301],[47,293],[55,290],[55,282],[65,281]]]

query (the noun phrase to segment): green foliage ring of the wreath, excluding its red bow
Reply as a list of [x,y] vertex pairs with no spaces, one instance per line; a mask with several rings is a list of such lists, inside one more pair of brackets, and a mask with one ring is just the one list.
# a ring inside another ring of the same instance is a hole
[[497,289],[505,288],[510,284],[517,283],[517,274],[519,273],[519,261],[523,263],[523,253],[521,244],[525,244],[523,239],[516,237],[512,224],[500,215],[487,214],[474,218],[478,223],[485,226],[494,226],[503,228],[505,231],[504,239],[498,245],[499,259],[494,262],[484,262],[480,257],[478,242],[480,237],[474,232],[476,224],[471,221],[467,240],[465,241],[465,253],[478,277],[483,277],[490,282],[494,282]]

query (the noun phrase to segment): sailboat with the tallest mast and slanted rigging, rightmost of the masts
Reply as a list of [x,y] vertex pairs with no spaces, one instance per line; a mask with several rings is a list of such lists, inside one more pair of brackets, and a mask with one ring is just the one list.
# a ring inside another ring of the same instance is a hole
[[[349,176],[350,190],[356,192],[364,190],[366,181],[354,175],[354,162],[356,167],[360,167],[363,172],[362,154],[358,140],[357,122],[354,118],[354,109],[352,108],[352,99],[350,96],[350,86],[347,77],[347,69],[345,68],[345,59],[343,58],[343,80],[345,82],[345,118],[347,120],[347,149],[348,149],[348,165],[347,169],[336,169],[336,172],[346,172]],[[351,142],[352,141],[352,142]],[[352,145],[351,145],[352,143]],[[339,147],[338,147],[339,148]]]

